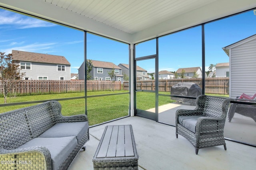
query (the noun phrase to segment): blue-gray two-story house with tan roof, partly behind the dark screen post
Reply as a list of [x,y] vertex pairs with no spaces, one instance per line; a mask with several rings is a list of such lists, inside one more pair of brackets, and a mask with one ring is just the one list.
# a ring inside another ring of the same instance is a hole
[[[87,60],[88,61],[88,60]],[[114,69],[115,77],[113,79],[110,78],[109,72]],[[78,78],[84,80],[84,62],[78,69]],[[92,71],[90,72],[92,75],[92,80],[107,80],[107,81],[121,81],[123,82],[122,68],[117,66],[114,63],[106,62],[106,61],[96,61],[92,60]]]

